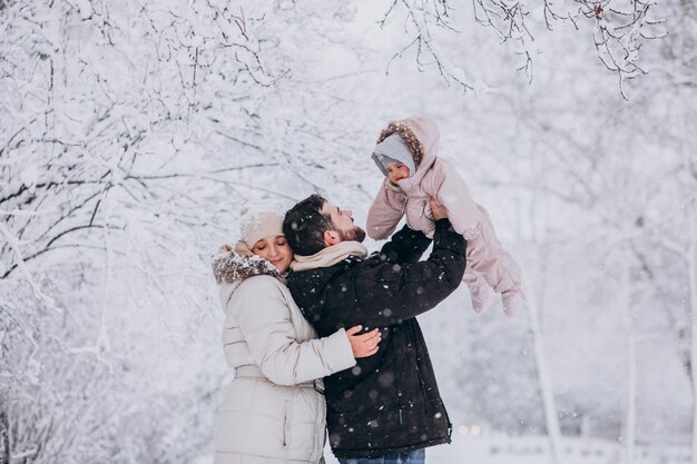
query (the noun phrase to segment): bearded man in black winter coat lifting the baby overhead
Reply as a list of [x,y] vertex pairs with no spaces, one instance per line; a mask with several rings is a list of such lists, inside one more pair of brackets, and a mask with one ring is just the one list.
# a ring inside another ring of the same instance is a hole
[[424,448],[450,443],[440,397],[415,316],[438,305],[464,274],[467,243],[431,200],[431,240],[406,226],[367,257],[365,231],[350,210],[312,195],[286,213],[283,233],[296,261],[287,284],[320,336],[361,324],[380,327],[376,355],[325,379],[327,426],[344,464],[423,463]]

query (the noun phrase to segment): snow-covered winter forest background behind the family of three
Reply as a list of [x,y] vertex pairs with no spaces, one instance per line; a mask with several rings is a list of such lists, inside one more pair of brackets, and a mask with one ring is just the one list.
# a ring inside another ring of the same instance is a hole
[[421,317],[439,453],[697,462],[696,42],[695,0],[0,0],[0,462],[212,462],[239,205],[363,225],[412,113],[529,295]]

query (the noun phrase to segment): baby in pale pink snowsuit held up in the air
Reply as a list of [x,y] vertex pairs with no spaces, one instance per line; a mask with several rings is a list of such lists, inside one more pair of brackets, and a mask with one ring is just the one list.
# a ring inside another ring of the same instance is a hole
[[472,307],[485,309],[493,289],[502,295],[505,314],[513,316],[526,299],[520,268],[501,247],[489,214],[474,203],[462,177],[438,157],[439,140],[435,121],[422,117],[390,122],[382,131],[372,157],[385,181],[367,214],[367,235],[375,240],[387,238],[406,215],[412,229],[432,237],[435,224],[429,198],[435,197],[468,240],[462,280],[470,288]]

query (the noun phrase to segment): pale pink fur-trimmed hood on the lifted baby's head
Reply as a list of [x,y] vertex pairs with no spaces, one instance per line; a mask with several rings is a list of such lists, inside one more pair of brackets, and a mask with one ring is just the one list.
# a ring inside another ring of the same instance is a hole
[[410,116],[405,119],[392,121],[380,132],[377,144],[394,132],[402,136],[402,139],[409,146],[414,157],[416,172],[419,172],[421,165],[431,165],[429,160],[432,160],[438,154],[441,140],[441,131],[433,119],[422,116]]

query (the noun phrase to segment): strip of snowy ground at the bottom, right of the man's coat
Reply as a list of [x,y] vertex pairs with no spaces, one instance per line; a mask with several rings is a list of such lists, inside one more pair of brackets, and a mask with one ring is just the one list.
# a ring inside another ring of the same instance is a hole
[[[563,438],[559,464],[626,463],[620,444],[593,438]],[[325,450],[327,464],[338,462]],[[459,436],[453,443],[428,448],[428,464],[548,464],[551,463],[548,442],[543,436],[510,437]],[[675,445],[644,445],[635,450],[632,464],[687,464],[689,448]]]

